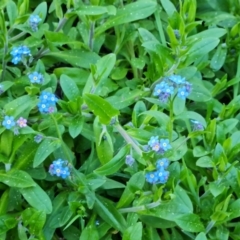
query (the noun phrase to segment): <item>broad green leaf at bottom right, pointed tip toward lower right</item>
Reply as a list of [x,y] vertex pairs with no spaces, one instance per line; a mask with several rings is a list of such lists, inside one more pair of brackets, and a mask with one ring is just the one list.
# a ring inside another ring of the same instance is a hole
[[202,232],[205,230],[200,221],[200,217],[193,213],[184,214],[180,217],[177,217],[175,222],[181,229],[187,232]]

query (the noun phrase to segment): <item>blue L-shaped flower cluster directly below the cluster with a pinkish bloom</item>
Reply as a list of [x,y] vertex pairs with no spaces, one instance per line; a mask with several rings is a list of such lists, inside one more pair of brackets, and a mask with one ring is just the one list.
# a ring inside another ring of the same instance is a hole
[[169,172],[166,168],[169,165],[167,158],[159,159],[156,163],[157,170],[146,174],[146,181],[149,183],[166,183],[169,177]]

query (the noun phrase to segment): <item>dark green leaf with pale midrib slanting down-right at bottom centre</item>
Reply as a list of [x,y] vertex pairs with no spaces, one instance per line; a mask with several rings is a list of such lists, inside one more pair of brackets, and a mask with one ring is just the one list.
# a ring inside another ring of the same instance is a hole
[[103,197],[96,196],[93,209],[109,225],[121,232],[125,231],[126,221],[124,217],[114,207],[111,201]]

